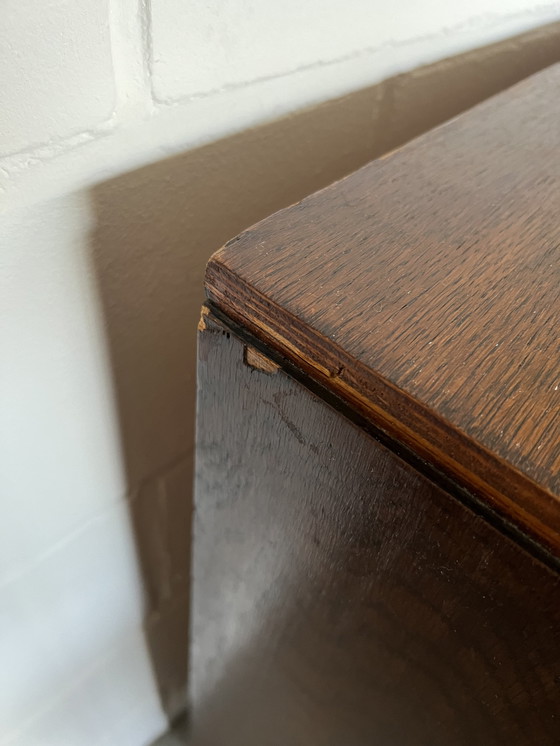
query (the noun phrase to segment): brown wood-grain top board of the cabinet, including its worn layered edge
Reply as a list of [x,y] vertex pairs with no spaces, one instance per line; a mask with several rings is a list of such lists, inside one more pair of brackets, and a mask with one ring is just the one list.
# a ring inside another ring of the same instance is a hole
[[241,234],[211,302],[560,553],[560,66]]

